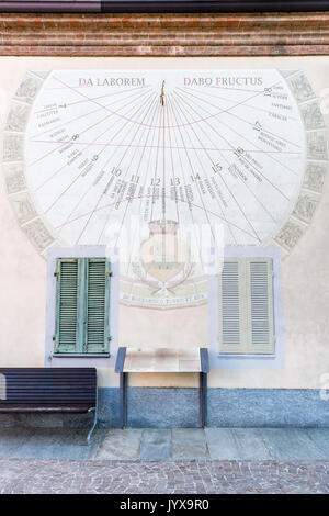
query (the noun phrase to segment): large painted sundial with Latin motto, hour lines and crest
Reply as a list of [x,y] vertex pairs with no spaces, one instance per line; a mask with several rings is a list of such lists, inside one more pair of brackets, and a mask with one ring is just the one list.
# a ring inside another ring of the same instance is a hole
[[13,207],[39,253],[121,251],[134,221],[122,302],[173,307],[207,295],[188,226],[208,227],[215,245],[222,227],[225,246],[287,255],[319,202],[328,155],[300,70],[111,69],[27,72],[3,157]]

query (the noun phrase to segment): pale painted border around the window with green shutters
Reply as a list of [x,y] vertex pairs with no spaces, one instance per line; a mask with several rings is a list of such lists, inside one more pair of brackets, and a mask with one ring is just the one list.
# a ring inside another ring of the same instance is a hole
[[[110,347],[106,352],[56,352],[54,336],[56,334],[56,302],[58,259],[99,259],[106,258],[111,265],[110,307],[107,313],[110,327]],[[105,246],[77,246],[73,248],[50,248],[47,251],[47,309],[46,309],[46,346],[45,366],[81,367],[86,360],[88,367],[114,366],[117,351],[117,319],[118,319],[118,251]]]

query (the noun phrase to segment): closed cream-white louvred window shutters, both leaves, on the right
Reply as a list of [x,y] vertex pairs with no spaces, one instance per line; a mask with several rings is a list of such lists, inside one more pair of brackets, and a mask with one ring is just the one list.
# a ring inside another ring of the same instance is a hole
[[219,352],[274,354],[272,259],[225,259],[218,292]]

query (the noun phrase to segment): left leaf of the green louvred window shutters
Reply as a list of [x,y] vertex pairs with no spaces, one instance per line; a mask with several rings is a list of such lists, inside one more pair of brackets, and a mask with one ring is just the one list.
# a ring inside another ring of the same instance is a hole
[[76,352],[78,333],[78,260],[58,259],[55,352]]

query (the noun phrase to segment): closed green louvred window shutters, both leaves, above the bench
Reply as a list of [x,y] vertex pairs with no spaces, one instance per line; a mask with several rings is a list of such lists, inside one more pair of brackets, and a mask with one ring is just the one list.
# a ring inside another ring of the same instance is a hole
[[56,354],[107,354],[111,266],[104,258],[57,260]]

